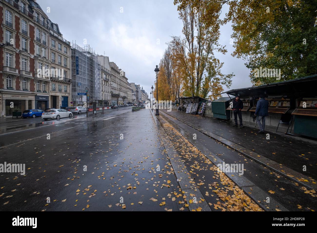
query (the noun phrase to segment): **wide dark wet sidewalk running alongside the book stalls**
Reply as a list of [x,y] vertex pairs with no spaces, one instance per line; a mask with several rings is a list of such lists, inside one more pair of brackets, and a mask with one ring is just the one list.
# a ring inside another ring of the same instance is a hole
[[[288,175],[294,182],[316,185],[317,141],[273,132],[258,134],[259,129],[233,127],[232,122],[201,117],[172,109],[164,113],[196,128],[241,154],[254,159],[275,172]],[[267,139],[269,133],[269,139]],[[303,171],[303,166],[306,171]]]

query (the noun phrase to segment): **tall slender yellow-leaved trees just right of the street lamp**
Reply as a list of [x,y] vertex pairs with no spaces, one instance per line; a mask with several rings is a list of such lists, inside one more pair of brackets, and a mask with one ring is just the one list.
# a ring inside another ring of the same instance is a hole
[[[169,54],[172,56],[171,69],[165,62],[165,55],[162,58],[163,62],[161,60],[160,63],[160,69],[164,70],[164,72],[160,71],[160,79],[163,82],[166,80],[168,84],[162,85],[170,89],[169,91],[159,89],[159,94],[161,92],[162,98],[171,98],[171,93],[177,97],[182,92],[184,96],[214,99],[216,94],[223,91],[222,85],[230,87],[231,78],[234,76],[221,73],[223,63],[220,63],[214,54],[227,52],[218,42],[221,7],[219,4],[215,7],[210,0],[175,0],[174,4],[178,5],[184,37],[171,36],[172,40],[168,43]],[[206,17],[211,17],[214,21],[207,21]]]

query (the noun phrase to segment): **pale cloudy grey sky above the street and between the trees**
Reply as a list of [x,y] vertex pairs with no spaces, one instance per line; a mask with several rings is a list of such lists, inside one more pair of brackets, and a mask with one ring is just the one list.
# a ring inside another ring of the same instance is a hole
[[[150,93],[155,65],[159,64],[170,36],[182,35],[173,0],[37,0],[50,20],[57,23],[63,37],[84,47],[84,39],[95,53],[109,56],[126,72],[129,82]],[[223,8],[223,15],[228,7]],[[234,73],[230,89],[250,87],[249,71],[242,59],[232,57],[231,25],[221,28],[220,43],[228,53],[217,58],[224,62],[223,73]],[[227,90],[227,89],[225,89]]]

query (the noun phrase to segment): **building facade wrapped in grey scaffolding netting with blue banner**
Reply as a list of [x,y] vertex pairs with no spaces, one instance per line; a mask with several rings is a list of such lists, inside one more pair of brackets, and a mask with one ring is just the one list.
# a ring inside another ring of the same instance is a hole
[[[81,48],[76,41],[70,43],[72,50],[72,100],[74,106],[82,106],[82,96],[78,93],[85,93],[88,87],[89,101],[87,105],[91,106],[93,102],[102,99],[101,93],[101,65],[98,62],[98,56],[93,48],[85,45]],[[76,74],[76,57],[78,57],[78,74]]]

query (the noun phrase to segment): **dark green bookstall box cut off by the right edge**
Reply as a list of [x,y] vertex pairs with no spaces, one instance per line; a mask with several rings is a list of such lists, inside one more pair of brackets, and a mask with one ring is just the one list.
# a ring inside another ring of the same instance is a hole
[[292,115],[294,116],[294,133],[317,138],[317,97],[298,100]]

